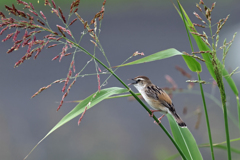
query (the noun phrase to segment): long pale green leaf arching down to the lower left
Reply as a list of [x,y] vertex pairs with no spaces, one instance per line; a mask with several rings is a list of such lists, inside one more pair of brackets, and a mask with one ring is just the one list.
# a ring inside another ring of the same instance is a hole
[[[119,88],[119,87],[112,87],[112,88],[106,88],[106,89],[102,89],[100,92],[96,92],[92,95],[90,95],[89,97],[87,97],[86,99],[84,99],[83,101],[81,101],[75,108],[73,108],[67,115],[65,115],[48,133],[46,136],[43,137],[43,139],[41,139],[37,145],[30,151],[29,154],[31,154],[31,152],[45,139],[47,138],[52,132],[54,132],[56,129],[58,129],[59,127],[61,127],[62,125],[64,125],[65,123],[69,122],[70,120],[72,120],[73,118],[79,116],[81,113],[84,112],[85,107],[87,106],[87,109],[95,106],[96,104],[98,104],[99,102],[103,101],[104,99],[108,98],[111,95],[114,94],[121,94],[121,93],[125,93],[128,92],[127,89],[124,88]],[[94,96],[95,95],[95,96]],[[90,103],[90,105],[88,105]],[[28,154],[28,155],[29,155]],[[28,157],[28,155],[25,157],[25,159]]]

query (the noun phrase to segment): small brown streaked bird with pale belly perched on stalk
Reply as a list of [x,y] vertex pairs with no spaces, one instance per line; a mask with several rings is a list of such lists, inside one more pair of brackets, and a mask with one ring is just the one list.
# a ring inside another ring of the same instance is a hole
[[133,84],[134,87],[136,87],[136,89],[141,93],[144,100],[154,109],[151,110],[152,115],[154,112],[163,113],[163,115],[158,119],[160,123],[160,120],[164,117],[164,115],[170,113],[180,127],[187,126],[176,113],[171,98],[163,89],[152,84],[150,79],[146,76],[138,76],[132,80],[135,82],[130,83],[129,85]]

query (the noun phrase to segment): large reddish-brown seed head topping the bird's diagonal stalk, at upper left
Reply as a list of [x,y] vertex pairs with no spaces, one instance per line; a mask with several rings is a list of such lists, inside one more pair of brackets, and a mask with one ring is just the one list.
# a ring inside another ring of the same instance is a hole
[[[17,61],[14,65],[14,67],[19,66],[20,64],[22,64],[25,60],[33,57],[34,59],[36,59],[38,57],[38,55],[40,54],[40,52],[42,51],[42,49],[44,47],[46,48],[52,48],[57,46],[57,44],[51,44],[49,46],[47,46],[49,44],[49,42],[53,42],[53,41],[60,41],[61,39],[63,39],[62,36],[59,36],[59,34],[53,30],[51,30],[50,28],[48,28],[45,24],[47,24],[46,20],[47,17],[44,15],[44,13],[42,11],[38,12],[35,10],[35,7],[33,6],[33,4],[31,2],[27,3],[24,2],[22,0],[17,0],[18,4],[21,4],[24,6],[24,11],[18,10],[15,5],[12,6],[5,6],[5,8],[7,9],[7,11],[9,13],[11,13],[14,16],[20,16],[21,19],[15,19],[15,18],[6,18],[5,14],[3,12],[0,12],[0,18],[1,18],[1,22],[0,22],[0,27],[2,27],[1,31],[0,31],[0,35],[4,34],[6,30],[8,29],[12,29],[12,28],[16,28],[16,30],[12,33],[9,33],[8,35],[6,35],[6,37],[2,40],[3,42],[12,39],[14,44],[13,46],[8,49],[7,53],[11,53],[14,50],[18,50],[20,47],[26,47],[27,51],[26,53],[22,56],[22,58]],[[90,22],[90,24],[87,21],[84,21],[78,14],[78,6],[79,6],[80,0],[75,0],[72,4],[71,4],[71,8],[70,8],[70,13],[75,13],[78,17],[78,19],[84,24],[84,28],[87,28],[89,34],[91,35],[91,37],[95,40],[91,40],[92,43],[94,43],[94,45],[97,46],[98,42],[98,37],[96,35],[96,30],[97,30],[97,19],[99,21],[101,21],[103,19],[104,16],[104,12],[105,12],[105,4],[106,4],[106,0],[104,0],[103,2],[103,6],[101,8],[101,10],[95,14],[93,20]],[[49,3],[49,0],[45,0],[45,5],[49,5],[50,7],[53,6],[52,8],[52,12],[54,12],[58,17],[60,17],[64,23],[66,23],[66,18],[63,15],[63,11],[61,10],[61,8],[57,8],[56,4],[53,0],[51,0],[51,4]],[[28,13],[27,13],[28,12]],[[35,18],[35,19],[34,19]],[[39,25],[36,24],[34,22],[34,20],[38,23],[40,23]],[[73,19],[68,26],[72,25],[73,23],[75,23],[77,21],[77,18]],[[91,24],[94,24],[94,29],[90,28]],[[59,30],[59,32],[66,37],[65,34],[68,34],[69,36],[72,37],[72,33],[70,30],[68,30],[68,28],[64,28],[60,25],[57,25],[57,28]],[[34,29],[34,31],[30,31]],[[24,31],[25,30],[25,31]],[[50,34],[46,35],[43,37],[43,39],[37,39],[39,38],[37,33],[40,33],[42,31],[47,31],[50,32]],[[24,35],[22,37],[19,36],[20,32],[24,33]],[[60,44],[60,43],[59,43]],[[61,59],[65,56],[69,56],[72,53],[71,52],[67,52],[69,48],[73,47],[73,43],[70,42],[69,40],[66,40],[64,47],[62,48],[62,52],[55,56],[52,60],[56,60],[59,59],[59,61],[61,61]],[[35,54],[35,55],[34,55]],[[143,54],[143,53],[142,53]],[[101,69],[98,67],[98,71],[101,72]],[[72,72],[76,72],[75,70],[75,61],[74,59],[72,60],[71,64],[70,64],[70,70],[69,73],[67,75],[67,78],[64,80],[56,80],[53,83],[61,83],[61,82],[65,82],[64,86],[62,88],[62,92],[64,93],[64,95],[62,96],[62,100],[60,102],[60,105],[58,107],[57,110],[60,109],[60,107],[63,105],[63,101],[64,98],[68,95],[71,87],[73,86],[73,84],[76,82],[76,79],[79,75],[76,74],[75,75],[75,79],[72,81],[72,83],[68,86],[70,79],[72,78]],[[98,91],[101,90],[101,83],[100,83],[100,75],[97,74],[97,81],[98,81]],[[40,92],[42,92],[43,90],[49,88],[53,83],[51,83],[48,86],[42,87],[40,88],[33,96],[35,97],[36,95],[38,95]],[[68,88],[67,88],[68,86]],[[66,89],[67,88],[67,89]],[[89,103],[90,105],[90,103]],[[87,109],[87,108],[86,108]],[[85,113],[85,112],[84,112]],[[82,115],[83,116],[83,115]],[[81,121],[82,118],[80,118]],[[80,122],[79,122],[80,123]]]

